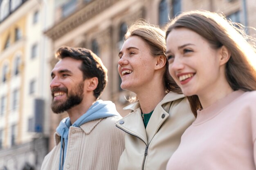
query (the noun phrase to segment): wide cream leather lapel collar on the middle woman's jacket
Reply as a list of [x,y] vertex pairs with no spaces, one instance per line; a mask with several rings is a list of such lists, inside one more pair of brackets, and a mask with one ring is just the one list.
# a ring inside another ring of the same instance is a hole
[[169,113],[171,113],[170,106],[172,101],[184,97],[184,94],[177,94],[173,92],[166,94],[163,100],[159,102],[155,107],[152,116],[148,122],[148,125],[146,127],[146,130],[144,122],[141,118],[141,109],[139,101],[132,103],[127,107],[124,107],[124,110],[132,110],[132,113],[128,114],[126,117],[121,119],[124,121],[124,124],[120,124],[119,122],[121,120],[119,120],[119,122],[117,122],[116,125],[120,129],[126,131],[127,133],[139,137],[142,141],[144,141],[144,143],[146,143],[146,145],[148,145],[148,143],[150,143],[154,135],[159,130],[160,126],[168,118]]

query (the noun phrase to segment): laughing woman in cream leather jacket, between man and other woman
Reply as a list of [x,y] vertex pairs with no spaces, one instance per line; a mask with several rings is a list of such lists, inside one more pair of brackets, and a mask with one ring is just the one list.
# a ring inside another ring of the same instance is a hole
[[136,94],[132,112],[116,123],[126,132],[119,170],[163,170],[195,119],[188,101],[168,73],[165,32],[136,22],[119,52],[121,88]]

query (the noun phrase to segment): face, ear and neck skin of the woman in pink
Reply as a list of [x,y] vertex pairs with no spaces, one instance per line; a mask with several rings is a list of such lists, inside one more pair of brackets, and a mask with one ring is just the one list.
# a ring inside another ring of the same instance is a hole
[[233,89],[225,78],[230,52],[213,49],[209,42],[187,28],[175,28],[166,39],[169,72],[186,96],[198,95],[203,108],[224,98]]

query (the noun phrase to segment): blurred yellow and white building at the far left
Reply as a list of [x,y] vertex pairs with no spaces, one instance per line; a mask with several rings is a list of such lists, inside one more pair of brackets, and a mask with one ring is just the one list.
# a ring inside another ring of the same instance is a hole
[[0,0],[0,169],[39,169],[48,150],[49,2]]

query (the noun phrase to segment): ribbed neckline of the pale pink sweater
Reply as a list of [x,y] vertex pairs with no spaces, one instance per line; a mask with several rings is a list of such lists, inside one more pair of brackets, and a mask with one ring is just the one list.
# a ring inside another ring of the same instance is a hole
[[224,98],[221,98],[220,100],[213,103],[211,106],[200,109],[197,111],[197,118],[193,122],[193,126],[197,126],[199,124],[202,124],[204,122],[207,122],[217,116],[227,105],[229,105],[231,102],[236,100],[238,97],[243,95],[245,92],[242,90],[237,90],[232,92],[231,94],[228,94]]

